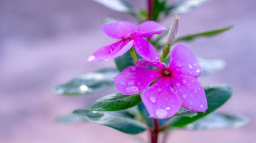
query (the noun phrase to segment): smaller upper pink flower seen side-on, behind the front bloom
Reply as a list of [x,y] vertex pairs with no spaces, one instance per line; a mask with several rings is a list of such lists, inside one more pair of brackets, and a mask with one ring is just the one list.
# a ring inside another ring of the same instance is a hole
[[92,56],[89,56],[87,62],[108,60],[122,56],[132,46],[143,58],[148,60],[159,59],[156,48],[150,42],[143,39],[151,38],[153,34],[162,34],[166,28],[162,27],[159,23],[146,21],[137,27],[129,21],[119,21],[116,23],[106,23],[102,28],[106,35],[121,40],[96,50]]

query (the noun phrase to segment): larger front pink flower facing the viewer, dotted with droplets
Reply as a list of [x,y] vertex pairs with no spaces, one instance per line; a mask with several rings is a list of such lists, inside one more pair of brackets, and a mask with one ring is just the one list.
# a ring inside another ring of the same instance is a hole
[[200,74],[199,60],[187,46],[177,44],[170,52],[168,67],[159,61],[141,59],[114,80],[118,91],[125,95],[142,91],[141,99],[150,117],[164,119],[177,113],[181,105],[191,111],[207,109],[205,92],[196,79]]

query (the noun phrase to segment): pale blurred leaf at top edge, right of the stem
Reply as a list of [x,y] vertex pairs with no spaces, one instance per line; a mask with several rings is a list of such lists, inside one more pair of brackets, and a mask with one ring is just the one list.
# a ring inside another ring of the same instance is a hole
[[181,3],[174,3],[170,5],[168,8],[166,8],[166,15],[168,13],[174,13],[174,14],[180,14],[180,13],[187,13],[204,3],[208,2],[210,0],[185,0],[182,1]]

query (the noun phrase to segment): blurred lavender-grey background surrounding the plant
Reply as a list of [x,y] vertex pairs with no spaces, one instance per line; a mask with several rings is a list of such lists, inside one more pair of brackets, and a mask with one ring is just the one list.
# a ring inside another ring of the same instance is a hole
[[[145,7],[145,1],[131,1]],[[234,25],[214,38],[187,44],[197,56],[222,58],[226,68],[200,81],[203,85],[226,83],[234,89],[222,111],[246,115],[249,125],[231,130],[193,132],[177,130],[172,142],[253,143],[256,119],[254,0],[210,1],[180,15],[178,36]],[[53,87],[102,67],[113,60],[85,64],[100,46],[110,44],[101,30],[104,17],[134,21],[90,0],[0,0],[0,142],[139,142],[96,124],[58,124],[55,118],[112,93],[65,97]],[[162,21],[168,28],[173,17]],[[139,137],[147,139],[144,132]]]

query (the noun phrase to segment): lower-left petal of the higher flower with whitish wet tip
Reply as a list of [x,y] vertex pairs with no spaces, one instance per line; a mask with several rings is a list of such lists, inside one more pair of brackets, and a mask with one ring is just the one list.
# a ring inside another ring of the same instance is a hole
[[114,44],[110,44],[107,46],[104,46],[102,48],[99,48],[98,50],[96,50],[96,52],[94,52],[94,54],[92,54],[91,56],[88,57],[87,62],[97,62],[100,60],[108,60],[111,56],[111,54],[113,53],[113,51],[119,47],[119,45],[122,43],[123,41],[120,40],[118,42],[115,42]]

